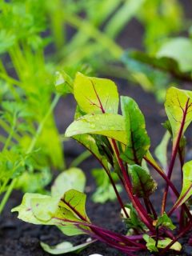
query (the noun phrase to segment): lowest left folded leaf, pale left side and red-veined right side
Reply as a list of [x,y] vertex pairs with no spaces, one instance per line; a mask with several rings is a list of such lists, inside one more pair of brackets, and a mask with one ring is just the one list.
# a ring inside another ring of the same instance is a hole
[[[56,225],[63,234],[85,234],[88,228],[81,222],[89,222],[85,211],[86,195],[77,190],[67,191],[62,200],[42,194],[25,194],[18,211],[18,218],[25,222],[42,225]],[[79,229],[77,222],[81,225]]]

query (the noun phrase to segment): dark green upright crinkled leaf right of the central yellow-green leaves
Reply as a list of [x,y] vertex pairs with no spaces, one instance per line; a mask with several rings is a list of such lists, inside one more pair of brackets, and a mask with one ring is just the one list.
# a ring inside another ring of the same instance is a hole
[[142,158],[150,148],[145,118],[132,98],[121,97],[122,115],[125,118],[127,145],[122,159],[129,164],[142,164]]

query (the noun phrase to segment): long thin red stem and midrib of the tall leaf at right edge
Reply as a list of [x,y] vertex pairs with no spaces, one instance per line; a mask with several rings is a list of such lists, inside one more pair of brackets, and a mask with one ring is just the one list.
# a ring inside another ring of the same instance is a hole
[[[181,123],[180,129],[178,131],[178,137],[176,139],[176,143],[174,143],[174,145],[173,145],[172,155],[171,155],[171,159],[170,159],[170,166],[169,166],[168,173],[167,173],[167,178],[168,179],[171,178],[171,174],[172,174],[172,171],[173,171],[173,168],[174,168],[174,162],[175,162],[175,158],[176,158],[177,153],[178,153],[179,142],[182,138],[182,131],[183,131],[183,128],[184,128],[185,122],[186,122],[186,113],[187,113],[187,110],[188,110],[189,101],[190,101],[190,98],[188,98],[187,101],[186,101],[185,110],[183,110],[182,123]],[[169,190],[169,185],[166,184],[166,189],[165,189],[165,192],[164,192],[163,198],[162,198],[162,214],[164,213],[164,211],[166,209],[166,198],[167,198],[168,190]]]

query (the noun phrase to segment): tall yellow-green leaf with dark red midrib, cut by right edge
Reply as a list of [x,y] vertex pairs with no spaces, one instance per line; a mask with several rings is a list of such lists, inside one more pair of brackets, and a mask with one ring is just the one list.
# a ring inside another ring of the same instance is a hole
[[165,109],[173,133],[173,147],[192,121],[192,92],[170,87],[166,93]]

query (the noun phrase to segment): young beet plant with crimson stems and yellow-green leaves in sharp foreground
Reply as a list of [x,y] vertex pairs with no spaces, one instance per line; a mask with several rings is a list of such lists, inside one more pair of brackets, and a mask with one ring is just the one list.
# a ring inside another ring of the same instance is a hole
[[[65,81],[62,84],[63,90],[72,92],[78,103],[75,120],[67,128],[66,137],[74,138],[98,158],[114,188],[128,232],[118,234],[95,226],[90,221],[85,210],[86,194],[82,193],[83,188],[81,192],[78,191],[78,178],[74,187],[68,185],[66,190],[63,186],[67,183],[56,182],[50,197],[26,194],[22,205],[13,211],[18,211],[18,218],[26,222],[56,225],[68,235],[88,234],[94,238],[92,242],[105,242],[127,255],[134,255],[140,250],[158,252],[158,255],[170,249],[181,250],[182,245],[178,239],[192,228],[189,202],[192,194],[192,161],[184,163],[184,133],[192,121],[192,93],[174,87],[167,91],[165,108],[168,121],[165,126],[170,135],[166,134],[163,138],[160,152],[166,150],[170,138],[173,146],[170,164],[162,161],[162,166],[168,166],[167,170],[163,170],[150,154],[150,138],[146,133],[145,119],[132,98],[120,98],[121,115],[118,114],[119,98],[114,82],[89,78],[79,73],[73,84],[70,79]],[[181,192],[171,182],[177,155],[182,167]],[[159,159],[161,162],[166,157],[159,155]],[[166,183],[161,212],[150,201],[157,183],[147,170],[147,165],[153,167]],[[122,202],[111,175],[113,172],[118,174],[130,205]],[[60,190],[60,193],[55,193],[55,190]],[[169,191],[174,203],[166,211]],[[178,216],[178,227],[171,221],[175,213]],[[43,247],[53,253],[47,245],[43,244]]]

